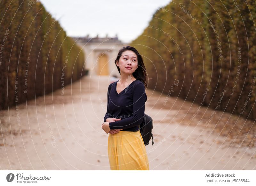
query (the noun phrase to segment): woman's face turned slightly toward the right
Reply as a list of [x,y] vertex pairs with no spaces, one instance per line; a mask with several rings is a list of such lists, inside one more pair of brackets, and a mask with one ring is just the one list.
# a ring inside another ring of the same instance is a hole
[[119,66],[120,72],[132,74],[138,67],[137,55],[131,50],[126,50],[122,53],[116,65]]

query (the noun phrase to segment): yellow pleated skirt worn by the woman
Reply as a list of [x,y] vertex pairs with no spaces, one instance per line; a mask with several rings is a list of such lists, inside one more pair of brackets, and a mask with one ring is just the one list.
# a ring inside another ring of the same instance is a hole
[[149,170],[148,155],[140,131],[109,133],[108,160],[111,170]]

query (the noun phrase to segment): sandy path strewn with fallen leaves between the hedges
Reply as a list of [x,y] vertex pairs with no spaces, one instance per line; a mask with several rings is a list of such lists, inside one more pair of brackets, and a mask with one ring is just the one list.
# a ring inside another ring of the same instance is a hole
[[[83,77],[66,86],[64,96],[60,89],[20,104],[20,126],[14,107],[0,111],[0,169],[110,170],[108,135],[101,129],[107,88],[107,76]],[[229,137],[212,132],[214,126],[204,127],[200,118],[212,110],[201,108],[189,123],[196,104],[190,108],[172,97],[163,107],[166,95],[146,93],[145,112],[154,119],[155,144],[146,146],[150,170],[256,170],[255,147],[230,146]]]

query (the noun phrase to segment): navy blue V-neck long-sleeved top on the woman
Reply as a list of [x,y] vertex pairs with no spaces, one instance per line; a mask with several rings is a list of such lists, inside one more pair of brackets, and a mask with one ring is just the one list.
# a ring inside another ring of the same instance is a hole
[[121,118],[121,120],[109,122],[109,128],[123,128],[124,131],[133,132],[138,131],[139,125],[143,121],[145,102],[148,98],[145,86],[142,81],[135,80],[118,94],[116,91],[118,81],[108,86],[108,105],[104,122],[108,118]]

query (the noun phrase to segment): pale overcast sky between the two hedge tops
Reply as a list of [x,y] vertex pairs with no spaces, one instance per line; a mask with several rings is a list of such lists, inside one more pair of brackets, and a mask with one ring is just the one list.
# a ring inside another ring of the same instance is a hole
[[40,0],[68,36],[114,37],[130,42],[142,34],[153,13],[171,0]]

